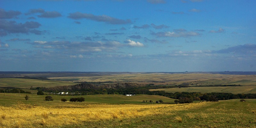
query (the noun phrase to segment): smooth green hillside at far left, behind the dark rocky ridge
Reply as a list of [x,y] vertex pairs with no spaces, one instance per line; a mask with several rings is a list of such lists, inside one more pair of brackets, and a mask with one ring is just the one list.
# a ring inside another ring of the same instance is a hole
[[52,87],[63,85],[75,85],[77,83],[56,80],[36,80],[36,79],[20,79],[20,78],[0,78],[0,87]]

